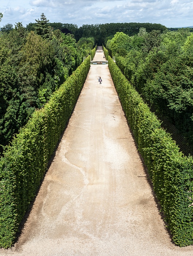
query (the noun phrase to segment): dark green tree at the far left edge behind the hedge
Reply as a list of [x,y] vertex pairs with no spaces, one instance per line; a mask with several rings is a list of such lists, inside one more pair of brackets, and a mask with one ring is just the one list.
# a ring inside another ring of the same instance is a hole
[[[14,59],[16,47],[9,43],[10,34],[0,37],[0,144],[6,145],[20,127],[21,98],[17,86],[17,71]],[[14,53],[14,54],[13,54]],[[0,148],[0,151],[2,148]]]

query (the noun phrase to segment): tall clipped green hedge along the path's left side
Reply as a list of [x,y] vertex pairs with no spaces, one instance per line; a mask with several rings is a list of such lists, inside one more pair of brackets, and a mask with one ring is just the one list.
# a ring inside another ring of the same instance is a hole
[[43,109],[34,112],[0,159],[0,247],[10,247],[90,68],[90,56],[61,85]]

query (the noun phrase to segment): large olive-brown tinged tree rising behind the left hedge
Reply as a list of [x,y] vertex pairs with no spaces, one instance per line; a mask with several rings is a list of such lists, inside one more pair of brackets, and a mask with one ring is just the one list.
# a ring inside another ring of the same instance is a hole
[[[22,49],[23,58],[19,65],[19,84],[22,97],[27,106],[29,115],[35,108],[40,107],[38,102],[39,88],[46,88],[46,101],[55,91],[54,84],[54,49],[49,41],[36,35],[33,31],[28,34],[27,42]],[[47,87],[46,87],[47,86]]]

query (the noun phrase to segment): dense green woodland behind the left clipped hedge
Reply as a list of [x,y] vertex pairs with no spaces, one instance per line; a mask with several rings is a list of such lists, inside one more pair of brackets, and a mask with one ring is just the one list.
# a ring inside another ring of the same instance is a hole
[[7,145],[34,110],[45,105],[94,45],[94,38],[76,42],[72,33],[54,30],[44,14],[34,30],[20,22],[1,29],[0,145]]

